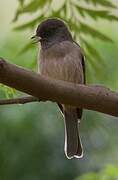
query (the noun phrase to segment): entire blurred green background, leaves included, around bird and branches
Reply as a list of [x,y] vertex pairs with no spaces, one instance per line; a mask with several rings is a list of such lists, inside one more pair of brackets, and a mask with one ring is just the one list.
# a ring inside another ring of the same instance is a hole
[[[67,22],[86,57],[88,84],[118,90],[118,1],[0,0],[0,56],[37,71],[30,37],[45,18]],[[0,98],[23,95],[0,85]],[[0,106],[0,179],[118,179],[118,119],[84,110],[82,159],[63,151],[63,117],[55,103]]]

